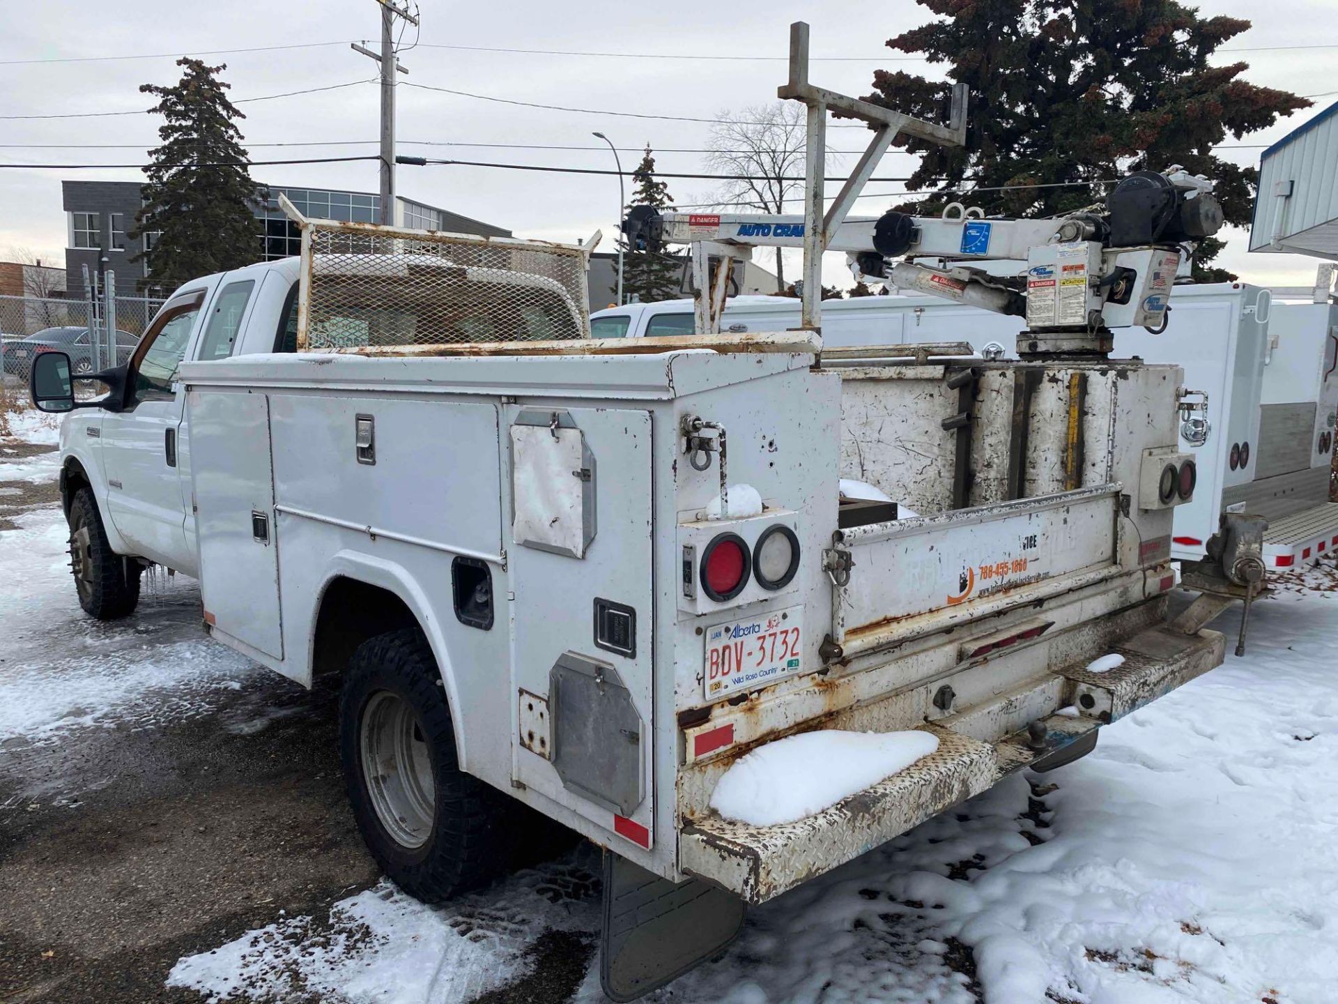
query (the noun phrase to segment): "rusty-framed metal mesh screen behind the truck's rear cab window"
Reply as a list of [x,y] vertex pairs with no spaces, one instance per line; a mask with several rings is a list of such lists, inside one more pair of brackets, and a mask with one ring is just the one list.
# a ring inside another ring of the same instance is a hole
[[590,336],[579,248],[310,226],[302,349]]

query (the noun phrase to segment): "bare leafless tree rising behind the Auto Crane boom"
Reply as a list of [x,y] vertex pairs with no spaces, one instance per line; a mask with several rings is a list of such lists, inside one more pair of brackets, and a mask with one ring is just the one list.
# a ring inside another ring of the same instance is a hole
[[[784,213],[804,198],[804,106],[775,102],[724,111],[706,139],[706,163],[741,175],[721,186],[717,203]],[[781,249],[776,248],[776,292],[785,292]]]

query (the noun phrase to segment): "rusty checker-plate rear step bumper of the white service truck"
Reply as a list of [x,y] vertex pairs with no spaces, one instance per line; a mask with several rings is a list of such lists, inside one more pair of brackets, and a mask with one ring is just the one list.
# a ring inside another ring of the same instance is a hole
[[1125,656],[1117,669],[1088,673],[1084,664],[1060,673],[1080,715],[1045,719],[1044,750],[1029,746],[1025,730],[983,743],[925,724],[939,738],[937,752],[816,815],[777,826],[732,823],[714,813],[685,822],[680,867],[751,904],[765,902],[1212,669],[1222,663],[1226,640],[1214,631],[1184,636],[1157,626],[1125,639],[1115,651]]

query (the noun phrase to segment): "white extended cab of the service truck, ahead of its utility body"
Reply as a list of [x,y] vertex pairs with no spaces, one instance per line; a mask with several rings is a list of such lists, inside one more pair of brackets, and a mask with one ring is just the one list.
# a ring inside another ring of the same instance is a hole
[[[292,352],[296,305],[296,258],[186,282],[154,317],[128,363],[108,371],[110,407],[75,411],[63,423],[66,513],[82,490],[91,493],[106,541],[122,560],[123,578],[138,580],[145,564],[199,574],[190,431],[175,383],[178,367],[185,360]],[[83,561],[87,566],[94,556],[84,554]],[[80,601],[84,593],[80,588]]]

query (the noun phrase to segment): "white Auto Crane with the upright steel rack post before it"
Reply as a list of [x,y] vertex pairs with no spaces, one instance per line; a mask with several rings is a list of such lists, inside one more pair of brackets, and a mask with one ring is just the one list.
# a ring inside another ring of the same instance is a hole
[[[1064,217],[986,218],[981,209],[958,202],[938,217],[894,210],[851,217],[898,134],[942,146],[966,142],[965,84],[953,88],[947,126],[815,87],[808,83],[808,25],[799,21],[789,27],[789,79],[777,95],[808,108],[803,216],[661,214],[633,206],[624,222],[636,248],[690,245],[701,335],[720,331],[735,261],[747,261],[753,248],[803,248],[804,329],[822,333],[823,253],[839,250],[858,277],[1025,317],[1017,344],[1024,357],[1103,357],[1113,348],[1111,329],[1160,331],[1167,324],[1176,274],[1223,224],[1212,182],[1179,166],[1135,171],[1107,194],[1104,207]],[[823,191],[828,111],[862,119],[874,133],[830,206]],[[712,260],[719,262],[714,276]],[[1024,274],[989,274],[977,266],[982,261],[1025,262],[1018,265]]]

